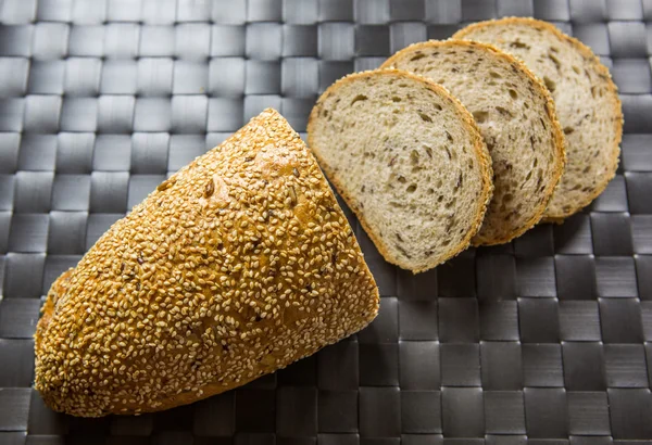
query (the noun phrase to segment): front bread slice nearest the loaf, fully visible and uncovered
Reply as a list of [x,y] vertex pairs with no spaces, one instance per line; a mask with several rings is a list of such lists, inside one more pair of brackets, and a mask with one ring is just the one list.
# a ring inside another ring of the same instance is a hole
[[349,75],[317,100],[309,147],[385,258],[414,272],[464,250],[491,198],[491,161],[466,109],[398,69]]

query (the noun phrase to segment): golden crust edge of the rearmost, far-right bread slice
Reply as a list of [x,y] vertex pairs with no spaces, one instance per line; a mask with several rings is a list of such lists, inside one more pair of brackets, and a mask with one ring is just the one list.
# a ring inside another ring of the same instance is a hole
[[542,218],[543,223],[559,224],[559,223],[563,221],[565,218],[567,218],[568,216],[574,215],[575,213],[581,211],[584,207],[589,205],[595,198],[598,198],[598,195],[600,195],[600,193],[602,193],[604,191],[604,189],[606,189],[606,186],[609,185],[609,182],[616,176],[616,170],[618,168],[619,154],[620,154],[619,145],[620,145],[620,141],[623,138],[623,125],[624,125],[623,107],[622,107],[620,99],[618,98],[618,88],[614,84],[611,73],[609,72],[609,68],[600,62],[600,59],[598,59],[598,56],[593,53],[593,51],[589,47],[587,47],[585,43],[582,43],[580,40],[576,39],[575,37],[572,37],[572,36],[568,36],[567,34],[562,33],[556,26],[554,26],[553,24],[548,23],[548,22],[543,22],[543,21],[532,18],[532,17],[496,18],[496,20],[471,24],[471,25],[460,29],[459,31],[456,31],[452,38],[453,39],[464,39],[466,35],[468,35],[471,31],[473,31],[475,29],[480,29],[480,28],[490,27],[490,26],[494,26],[494,25],[510,25],[510,24],[522,24],[522,25],[530,26],[532,28],[547,30],[547,31],[554,34],[557,38],[570,43],[570,46],[573,46],[582,56],[585,56],[586,59],[591,61],[593,68],[595,69],[595,72],[598,73],[600,78],[602,78],[604,80],[607,91],[610,92],[609,96],[610,96],[611,102],[612,102],[611,109],[612,109],[612,112],[615,117],[613,119],[613,123],[614,123],[614,129],[615,129],[615,134],[616,134],[616,137],[614,138],[614,144],[612,147],[610,147],[610,151],[612,153],[611,162],[609,164],[609,166],[611,167],[610,175],[605,175],[603,177],[603,180],[595,187],[593,192],[587,194],[586,199],[582,202],[573,206],[568,212],[552,214],[549,211],[547,211],[544,213],[543,218]]

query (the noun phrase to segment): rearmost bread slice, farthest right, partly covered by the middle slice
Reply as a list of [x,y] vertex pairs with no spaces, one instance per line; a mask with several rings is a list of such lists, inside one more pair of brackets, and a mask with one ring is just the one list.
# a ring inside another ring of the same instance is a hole
[[567,155],[544,218],[560,221],[589,205],[618,166],[623,111],[609,69],[579,40],[534,18],[480,22],[453,37],[496,44],[543,80],[555,101]]

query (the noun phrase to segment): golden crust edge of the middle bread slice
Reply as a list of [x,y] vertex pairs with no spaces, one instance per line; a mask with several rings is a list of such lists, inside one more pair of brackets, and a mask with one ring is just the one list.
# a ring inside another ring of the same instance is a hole
[[515,238],[521,237],[523,233],[525,233],[526,231],[531,229],[543,217],[543,214],[546,213],[546,208],[548,207],[548,203],[550,202],[550,199],[552,198],[552,193],[554,192],[554,189],[555,189],[556,185],[559,183],[559,181],[562,177],[562,174],[564,171],[564,165],[566,163],[565,138],[564,138],[564,134],[562,131],[562,127],[556,117],[555,105],[554,105],[554,101],[552,100],[552,94],[550,93],[550,91],[548,91],[548,88],[546,88],[546,86],[543,85],[541,79],[539,79],[539,77],[537,77],[525,65],[525,63],[523,63],[518,59],[514,58],[513,55],[500,50],[499,48],[494,47],[493,44],[484,43],[484,42],[479,42],[479,41],[455,40],[455,39],[427,40],[427,41],[416,42],[416,43],[412,43],[412,44],[405,47],[404,49],[392,54],[389,59],[387,59],[383,63],[383,65],[380,65],[380,68],[388,68],[388,67],[393,66],[400,58],[404,56],[405,54],[412,53],[414,51],[429,49],[429,48],[447,48],[447,47],[456,47],[456,46],[476,48],[476,49],[480,49],[480,50],[490,52],[493,55],[504,60],[507,64],[510,64],[512,66],[516,66],[517,69],[519,69],[519,72],[523,72],[527,76],[528,79],[532,80],[532,82],[535,84],[535,86],[537,88],[537,91],[546,98],[546,104],[547,104],[546,112],[547,112],[548,118],[551,120],[552,127],[553,127],[552,131],[553,131],[553,137],[554,137],[554,145],[555,145],[555,150],[556,150],[555,165],[553,167],[554,173],[553,173],[552,180],[547,185],[546,191],[543,192],[543,200],[541,201],[541,204],[539,204],[535,208],[534,214],[528,218],[528,220],[523,226],[516,228],[512,232],[506,233],[503,237],[494,237],[494,238],[481,237],[481,232],[478,232],[478,234],[476,234],[472,239],[472,242],[471,242],[472,245],[474,245],[474,246],[504,244],[504,243],[512,241]]

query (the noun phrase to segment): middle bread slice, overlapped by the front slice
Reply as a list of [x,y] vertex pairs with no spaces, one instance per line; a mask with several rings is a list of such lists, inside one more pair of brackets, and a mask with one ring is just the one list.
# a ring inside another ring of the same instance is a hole
[[564,167],[564,136],[546,87],[499,49],[463,40],[412,44],[381,67],[444,86],[476,119],[493,165],[493,198],[473,244],[501,244],[539,223]]

